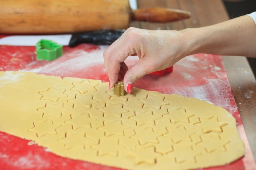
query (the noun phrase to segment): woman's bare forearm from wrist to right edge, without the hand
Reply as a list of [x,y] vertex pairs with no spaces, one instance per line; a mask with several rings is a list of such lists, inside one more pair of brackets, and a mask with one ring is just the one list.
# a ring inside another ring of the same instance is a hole
[[256,24],[249,16],[181,32],[187,42],[187,55],[211,53],[256,57]]

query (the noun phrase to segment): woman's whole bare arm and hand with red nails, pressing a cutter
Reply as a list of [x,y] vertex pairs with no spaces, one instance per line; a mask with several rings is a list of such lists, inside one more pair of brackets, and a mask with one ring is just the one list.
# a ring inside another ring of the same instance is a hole
[[[123,79],[124,88],[130,93],[137,79],[196,53],[256,57],[256,24],[251,17],[242,16],[182,31],[129,28],[103,56],[110,88]],[[124,61],[130,55],[137,55],[139,61],[127,69]]]

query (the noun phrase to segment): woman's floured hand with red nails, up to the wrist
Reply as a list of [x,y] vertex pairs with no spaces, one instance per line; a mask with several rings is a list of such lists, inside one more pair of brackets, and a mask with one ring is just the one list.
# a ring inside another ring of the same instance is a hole
[[[173,66],[187,55],[185,49],[186,39],[180,31],[128,28],[103,53],[110,88],[124,79],[124,89],[131,93],[137,79]],[[128,69],[124,60],[130,55],[138,55],[139,61]]]

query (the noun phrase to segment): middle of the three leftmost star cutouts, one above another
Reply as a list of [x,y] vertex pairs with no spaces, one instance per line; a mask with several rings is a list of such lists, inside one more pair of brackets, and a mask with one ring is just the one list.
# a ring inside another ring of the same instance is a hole
[[43,117],[55,116],[61,117],[61,113],[67,111],[67,108],[63,108],[63,103],[51,104],[47,103],[45,108],[39,108],[38,111],[43,112]]

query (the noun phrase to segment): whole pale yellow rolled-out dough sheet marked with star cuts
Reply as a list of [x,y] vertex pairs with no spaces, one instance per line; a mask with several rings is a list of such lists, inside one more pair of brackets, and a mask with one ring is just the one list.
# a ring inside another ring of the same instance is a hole
[[186,170],[243,157],[234,117],[195,98],[100,80],[0,72],[0,130],[62,157],[129,170]]

